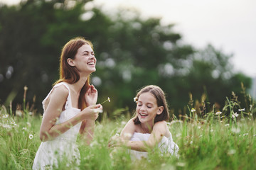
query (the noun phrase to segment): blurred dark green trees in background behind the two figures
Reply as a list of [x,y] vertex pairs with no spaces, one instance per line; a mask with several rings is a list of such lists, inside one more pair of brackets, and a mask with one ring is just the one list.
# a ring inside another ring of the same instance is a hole
[[94,44],[97,72],[92,84],[99,91],[99,103],[112,98],[105,106],[109,114],[125,107],[132,112],[132,98],[148,84],[164,89],[175,115],[187,113],[183,108],[190,93],[195,101],[206,95],[208,108],[216,103],[222,108],[232,91],[243,96],[241,82],[250,89],[251,79],[233,72],[232,55],[212,45],[195,49],[174,32],[174,25],[161,25],[160,18],[144,20],[129,10],[111,16],[100,8],[85,8],[87,2],[30,0],[0,6],[1,103],[21,103],[26,85],[28,101],[36,96],[36,113],[41,113],[41,101],[58,79],[61,48],[76,36]]

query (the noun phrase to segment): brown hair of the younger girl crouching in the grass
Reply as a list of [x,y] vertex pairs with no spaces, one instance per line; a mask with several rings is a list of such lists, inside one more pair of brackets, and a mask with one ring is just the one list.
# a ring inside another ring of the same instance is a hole
[[[151,93],[156,98],[156,103],[158,107],[159,106],[164,107],[163,112],[160,115],[156,115],[156,118],[154,118],[154,123],[157,123],[162,120],[169,120],[170,115],[169,115],[169,108],[166,102],[166,97],[164,95],[164,91],[159,86],[155,86],[155,85],[145,86],[137,93],[137,96],[134,98],[134,101],[137,102],[139,96],[146,92]],[[138,125],[140,123],[141,122],[139,121],[139,118],[135,113],[134,124]]]

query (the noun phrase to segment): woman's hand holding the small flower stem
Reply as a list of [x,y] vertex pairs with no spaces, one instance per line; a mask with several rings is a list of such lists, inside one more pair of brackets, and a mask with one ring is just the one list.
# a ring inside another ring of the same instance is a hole
[[102,112],[102,105],[97,104],[97,105],[92,105],[88,106],[84,110],[80,112],[80,116],[82,120],[96,120],[97,117],[99,116],[99,113]]

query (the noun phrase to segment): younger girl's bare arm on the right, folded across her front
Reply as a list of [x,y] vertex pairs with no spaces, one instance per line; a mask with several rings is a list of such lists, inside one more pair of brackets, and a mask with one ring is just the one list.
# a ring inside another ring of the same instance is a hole
[[161,121],[154,124],[149,140],[146,141],[123,141],[124,145],[130,147],[133,150],[146,152],[148,149],[153,149],[161,142],[162,138],[166,134],[166,122]]

